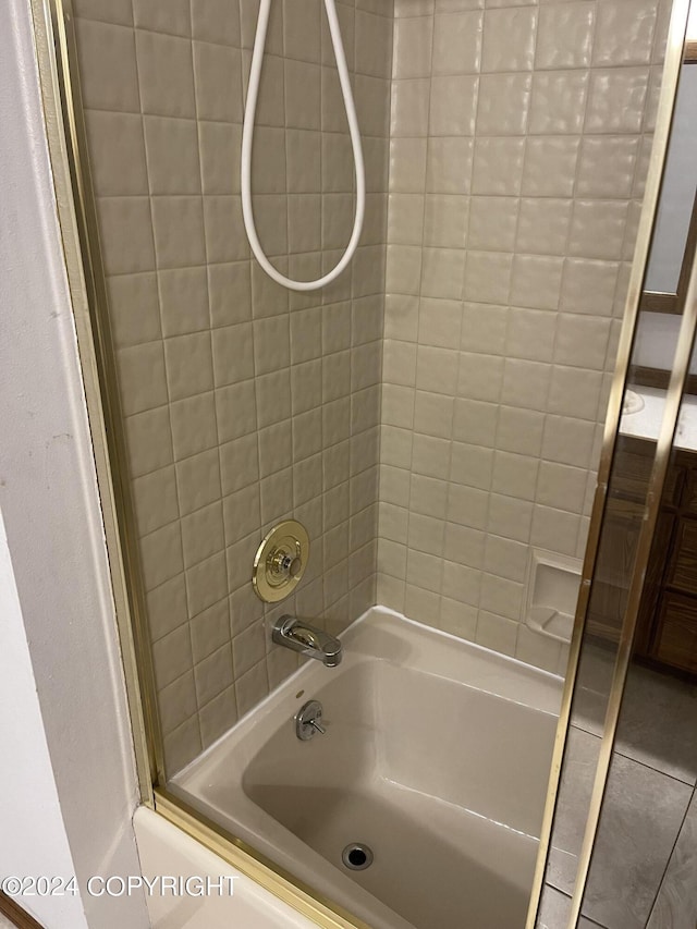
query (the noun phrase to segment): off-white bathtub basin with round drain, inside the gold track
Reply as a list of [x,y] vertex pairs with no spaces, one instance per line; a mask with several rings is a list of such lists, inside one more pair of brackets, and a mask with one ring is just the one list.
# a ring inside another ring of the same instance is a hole
[[[171,784],[374,929],[522,929],[562,681],[382,608]],[[325,735],[295,735],[309,699]],[[370,846],[363,871],[342,864]]]

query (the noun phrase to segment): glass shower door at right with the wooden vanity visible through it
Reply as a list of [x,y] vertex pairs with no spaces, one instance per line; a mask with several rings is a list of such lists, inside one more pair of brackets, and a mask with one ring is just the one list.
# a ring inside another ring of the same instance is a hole
[[[627,377],[620,364],[613,399],[622,404],[612,435],[611,399],[562,713],[568,725],[558,733],[553,826],[538,861],[541,905],[528,917],[547,929],[692,929],[697,919],[697,69],[685,49],[659,218],[677,185],[687,221],[682,235],[680,224],[668,227],[668,249],[657,223],[636,327],[625,319]],[[652,264],[671,247],[674,292],[656,293]]]

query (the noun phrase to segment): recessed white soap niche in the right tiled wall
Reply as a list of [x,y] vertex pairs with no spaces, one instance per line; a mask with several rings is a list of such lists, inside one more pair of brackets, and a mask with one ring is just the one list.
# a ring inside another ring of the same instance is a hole
[[557,641],[571,641],[580,570],[578,558],[530,551],[523,620],[531,629]]

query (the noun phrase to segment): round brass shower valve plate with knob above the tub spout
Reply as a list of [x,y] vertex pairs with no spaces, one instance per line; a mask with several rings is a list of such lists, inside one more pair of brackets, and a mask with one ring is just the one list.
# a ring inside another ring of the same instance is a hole
[[254,557],[252,584],[261,600],[277,603],[297,587],[307,567],[309,536],[295,519],[285,519],[266,536]]

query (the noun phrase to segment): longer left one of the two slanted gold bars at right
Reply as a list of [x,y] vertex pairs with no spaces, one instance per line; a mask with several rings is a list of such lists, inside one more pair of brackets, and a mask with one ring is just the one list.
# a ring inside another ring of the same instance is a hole
[[[598,464],[598,484],[596,488],[596,496],[590,517],[588,541],[586,545],[586,552],[584,557],[580,589],[578,595],[578,602],[576,606],[574,629],[572,633],[571,648],[568,655],[568,665],[566,676],[564,679],[564,689],[562,694],[559,724],[554,737],[550,780],[548,785],[547,799],[545,803],[545,814],[542,817],[540,842],[525,929],[535,929],[542,899],[542,890],[545,887],[545,873],[547,869],[552,827],[559,799],[559,786],[562,763],[564,759],[564,751],[566,748],[566,741],[571,724],[572,700],[578,673],[578,661],[580,658],[580,648],[586,625],[586,613],[590,600],[592,577],[598,560],[600,531],[606,510],[608,482],[610,479],[610,470],[614,457],[615,442],[620,429],[620,419],[622,416],[622,398],[624,394],[624,384],[629,369],[632,349],[634,345],[634,335],[639,313],[639,302],[641,298],[646,266],[651,244],[651,237],[653,234],[653,221],[658,208],[661,181],[663,176],[663,168],[665,164],[665,157],[668,151],[668,142],[673,120],[675,95],[685,46],[685,29],[687,25],[688,11],[689,0],[674,0],[671,13],[671,23],[669,27],[665,61],[663,65],[661,94],[659,98],[656,132],[653,136],[653,147],[651,150],[651,159],[647,172],[644,204],[641,207],[641,216],[639,219],[639,228],[637,231],[632,273],[627,288],[624,317],[622,321],[622,329],[620,332],[620,340],[617,345],[615,370],[608,401],[608,412],[603,430],[602,449],[600,453],[600,461]],[[587,868],[583,880],[584,887],[586,880]],[[578,913],[576,913],[575,918],[570,921],[570,929],[573,929],[576,926],[577,919]]]

